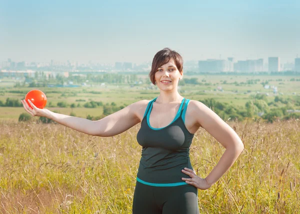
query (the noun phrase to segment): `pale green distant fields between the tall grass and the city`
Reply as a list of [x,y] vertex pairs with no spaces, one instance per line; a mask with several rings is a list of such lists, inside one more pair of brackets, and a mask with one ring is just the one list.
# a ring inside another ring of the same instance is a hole
[[[148,79],[147,75],[139,75],[138,78],[141,80]],[[299,81],[291,81],[291,79],[300,80],[298,76],[185,75],[184,78],[197,78],[198,82],[202,83],[202,85],[188,84],[179,87],[179,93],[187,99],[204,100],[206,98],[213,98],[219,102],[226,102],[238,107],[244,106],[247,101],[253,101],[253,97],[258,92],[262,94],[267,93],[268,102],[273,101],[275,96],[300,101]],[[247,81],[253,82],[246,84]],[[277,87],[276,94],[273,93],[273,89],[271,88],[263,88],[261,83],[266,81],[269,86]],[[234,84],[235,82],[237,84]],[[3,79],[0,82],[0,101],[5,102],[7,98],[23,99],[25,94],[33,89],[28,87],[14,88],[14,84],[13,80],[8,79]],[[217,90],[218,86],[222,90]],[[100,83],[94,83],[79,88],[38,89],[45,92],[48,109],[57,110],[63,114],[75,112],[76,116],[79,117],[86,117],[88,114],[94,116],[101,115],[102,108],[59,108],[56,104],[64,101],[69,105],[74,103],[76,106],[78,104],[82,106],[88,101],[101,101],[104,104],[114,102],[117,106],[127,106],[141,99],[151,100],[159,95],[157,87],[149,86],[149,84],[131,86],[128,84],[106,84],[101,86]],[[50,107],[49,104],[55,107]],[[0,107],[0,119],[16,121],[22,112],[24,112],[22,107],[15,107],[13,109]]]

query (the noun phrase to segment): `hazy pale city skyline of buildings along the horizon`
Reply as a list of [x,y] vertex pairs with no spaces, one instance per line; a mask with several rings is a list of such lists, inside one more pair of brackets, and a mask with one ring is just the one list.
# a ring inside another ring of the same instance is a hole
[[[300,58],[295,58],[294,63],[280,63],[280,57],[268,57],[267,62],[263,59],[254,60],[236,60],[233,57],[224,59],[206,59],[198,61],[186,61],[184,63],[184,69],[194,70],[196,67],[199,72],[281,72],[281,71],[295,71],[300,72]],[[44,68],[47,70],[61,70],[67,69],[72,71],[84,70],[119,70],[119,71],[146,71],[151,69],[151,63],[146,62],[143,64],[136,64],[132,62],[115,62],[114,64],[100,64],[91,63],[78,64],[77,62],[51,62],[39,63],[39,62],[14,62],[11,59],[2,61],[0,63],[0,71],[21,71],[26,69]],[[79,69],[79,70],[78,70]]]

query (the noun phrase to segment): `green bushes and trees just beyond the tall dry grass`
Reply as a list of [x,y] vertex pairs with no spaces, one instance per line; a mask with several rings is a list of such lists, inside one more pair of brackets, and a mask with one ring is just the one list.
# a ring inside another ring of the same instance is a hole
[[[7,98],[8,99],[8,98]],[[290,99],[284,99],[283,97],[275,96],[274,100],[268,102],[266,99],[266,95],[257,94],[251,97],[251,101],[245,103],[244,106],[235,106],[232,104],[228,104],[226,102],[219,102],[213,98],[207,98],[204,100],[199,100],[204,105],[213,110],[219,117],[221,117],[224,121],[227,120],[237,120],[243,121],[247,118],[251,118],[253,120],[263,119],[267,122],[274,122],[275,120],[289,120],[291,118],[300,119],[300,113],[289,113],[287,110],[294,109],[293,106],[300,106],[300,100],[292,101]],[[10,101],[8,102],[10,103]],[[13,102],[12,102],[13,103]],[[61,104],[63,103],[63,104]],[[65,102],[57,103],[57,106],[67,107],[68,105]],[[86,118],[89,120],[99,120],[107,115],[110,115],[122,108],[124,106],[117,106],[114,102],[103,104],[101,101],[89,101],[86,102],[83,107],[85,108],[97,108],[98,106],[103,107],[103,113],[97,116],[88,115]],[[70,105],[71,108],[75,108],[75,104]],[[25,116],[26,113],[22,113],[19,117],[19,121],[28,120],[30,118]],[[71,112],[71,116],[75,116],[74,113]],[[41,122],[49,123],[52,122],[46,118],[39,119]]]

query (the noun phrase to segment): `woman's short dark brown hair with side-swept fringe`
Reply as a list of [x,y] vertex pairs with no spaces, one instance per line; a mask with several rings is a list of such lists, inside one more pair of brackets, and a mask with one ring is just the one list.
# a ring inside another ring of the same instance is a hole
[[170,59],[173,59],[175,61],[175,65],[176,65],[178,71],[180,73],[182,73],[183,60],[182,60],[182,57],[180,56],[180,54],[178,54],[175,51],[172,51],[169,48],[164,48],[164,49],[158,51],[152,60],[152,67],[151,67],[151,71],[149,73],[149,77],[150,77],[151,82],[154,85],[155,85],[154,75],[157,71],[157,68],[166,64]]

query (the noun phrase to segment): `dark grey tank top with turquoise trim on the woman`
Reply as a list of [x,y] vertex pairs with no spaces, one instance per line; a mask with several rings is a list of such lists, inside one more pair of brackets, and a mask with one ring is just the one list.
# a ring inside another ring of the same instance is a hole
[[192,169],[189,147],[193,138],[184,125],[188,99],[183,98],[174,120],[163,128],[152,128],[149,116],[153,102],[146,108],[137,142],[142,146],[137,172],[137,181],[153,186],[177,186],[185,183],[181,178],[190,178],[181,172],[184,167]]

